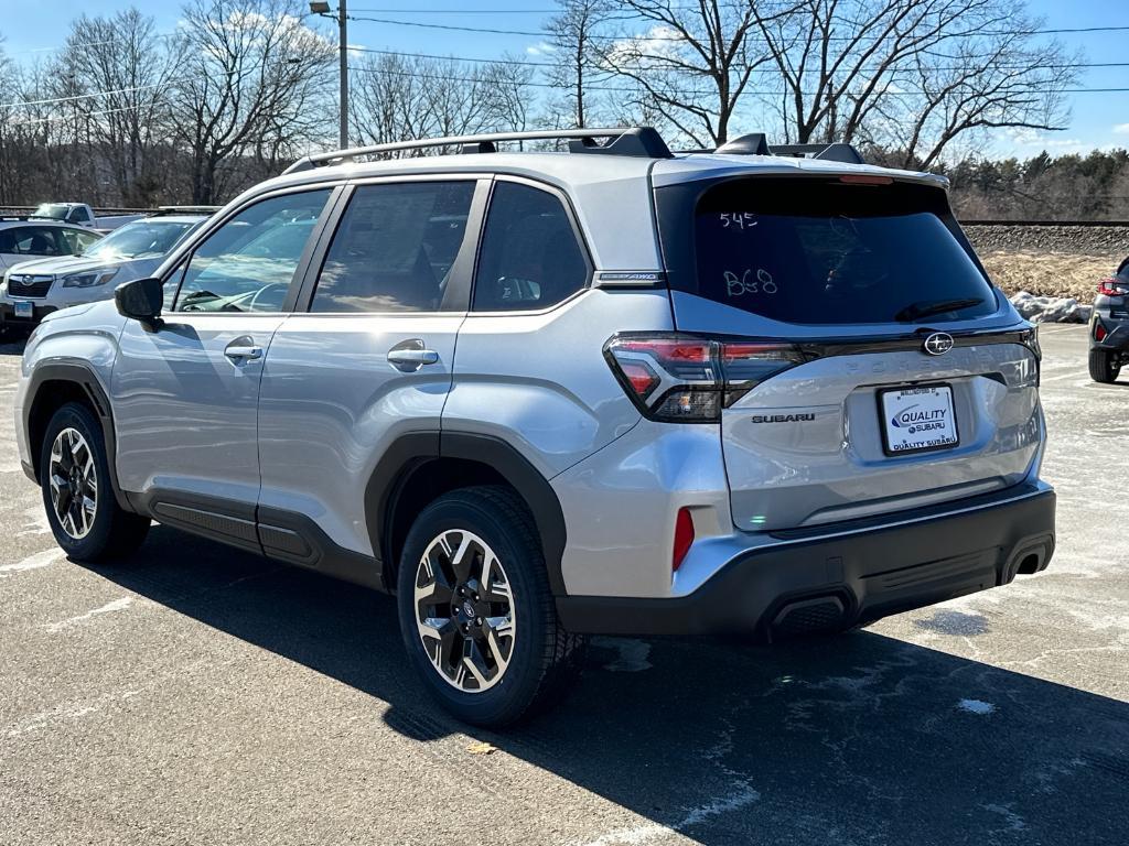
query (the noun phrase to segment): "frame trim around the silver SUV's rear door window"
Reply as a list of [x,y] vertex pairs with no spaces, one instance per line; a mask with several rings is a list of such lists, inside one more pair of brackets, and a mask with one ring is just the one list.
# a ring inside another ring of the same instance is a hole
[[[452,264],[452,284],[444,292],[443,302],[439,309],[434,311],[312,311],[314,296],[317,293],[317,279],[322,274],[325,259],[329,257],[330,247],[336,237],[341,221],[344,219],[349,204],[352,201],[357,188],[368,185],[387,185],[397,183],[428,183],[428,182],[473,182],[474,193],[471,196],[471,206],[466,214],[466,231],[463,233],[463,244],[458,248],[455,262]],[[333,219],[326,221],[323,237],[318,243],[317,254],[314,261],[306,268],[301,280],[301,287],[295,303],[296,314],[316,315],[317,317],[333,317],[340,319],[360,319],[365,317],[441,317],[452,314],[467,314],[471,307],[471,285],[474,279],[474,268],[478,264],[478,246],[482,238],[482,227],[485,220],[485,208],[488,195],[491,190],[490,174],[396,174],[395,176],[366,177],[350,180],[342,193],[338,208],[334,210]]]

